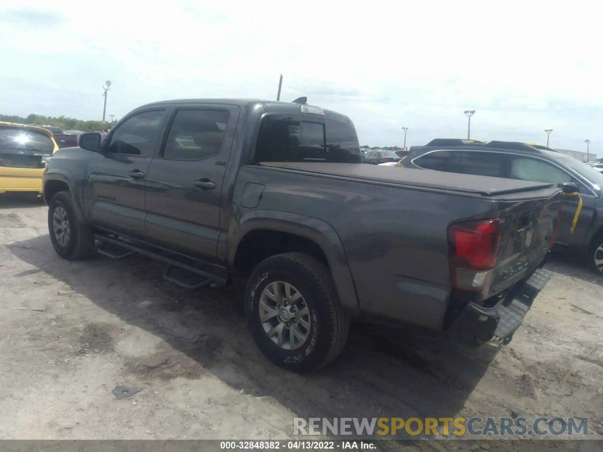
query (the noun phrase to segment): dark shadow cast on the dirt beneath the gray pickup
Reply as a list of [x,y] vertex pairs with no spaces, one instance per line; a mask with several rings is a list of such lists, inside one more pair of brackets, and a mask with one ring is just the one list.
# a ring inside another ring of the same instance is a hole
[[137,379],[194,379],[209,372],[245,394],[273,397],[301,417],[452,417],[463,409],[498,350],[490,344],[469,349],[359,324],[332,365],[313,374],[292,374],[268,362],[256,348],[245,324],[241,284],[179,289],[162,280],[162,265],[143,257],[67,262],[54,253],[47,235],[8,248],[76,294],[171,346],[161,352],[165,359],[156,359],[157,366],[126,364]]

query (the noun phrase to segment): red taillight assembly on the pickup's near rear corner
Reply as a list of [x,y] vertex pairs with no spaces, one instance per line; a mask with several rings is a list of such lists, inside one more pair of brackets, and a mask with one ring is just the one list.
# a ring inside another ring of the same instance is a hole
[[448,227],[453,286],[478,291],[485,286],[496,263],[499,230],[498,218],[467,221]]

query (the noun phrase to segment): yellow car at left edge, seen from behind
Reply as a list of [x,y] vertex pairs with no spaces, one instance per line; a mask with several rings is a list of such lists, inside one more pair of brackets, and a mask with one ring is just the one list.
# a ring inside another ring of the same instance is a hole
[[57,150],[48,130],[0,121],[0,193],[41,193],[46,161]]

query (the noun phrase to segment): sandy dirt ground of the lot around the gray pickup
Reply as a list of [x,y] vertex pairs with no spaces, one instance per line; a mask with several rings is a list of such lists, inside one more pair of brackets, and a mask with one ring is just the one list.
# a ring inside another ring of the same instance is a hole
[[[66,262],[46,211],[0,198],[0,439],[285,439],[295,416],[512,413],[587,416],[603,435],[603,278],[567,259],[506,347],[358,325],[302,376],[259,353],[241,287],[178,289],[136,257]],[[142,391],[116,400],[116,385]]]

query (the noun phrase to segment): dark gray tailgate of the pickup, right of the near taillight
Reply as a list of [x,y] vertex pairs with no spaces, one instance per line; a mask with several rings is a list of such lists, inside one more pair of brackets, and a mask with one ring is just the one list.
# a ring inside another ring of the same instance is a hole
[[512,202],[500,214],[500,242],[489,295],[529,277],[545,259],[557,231],[561,192]]

